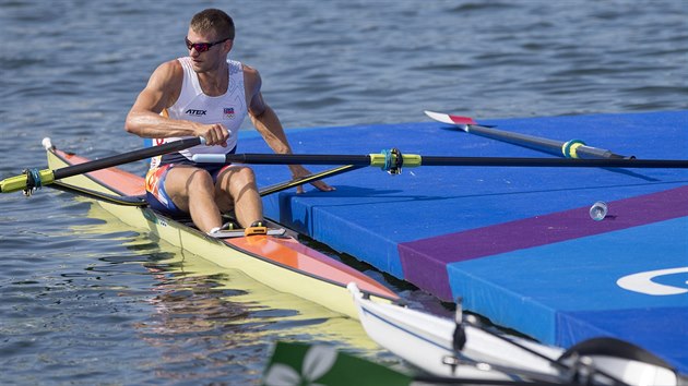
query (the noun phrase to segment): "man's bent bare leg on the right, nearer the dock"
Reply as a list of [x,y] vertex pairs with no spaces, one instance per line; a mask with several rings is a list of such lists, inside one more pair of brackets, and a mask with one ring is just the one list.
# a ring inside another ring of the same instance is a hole
[[256,174],[250,168],[233,166],[223,170],[217,176],[215,196],[223,212],[234,208],[242,228],[263,219],[263,203],[256,185]]

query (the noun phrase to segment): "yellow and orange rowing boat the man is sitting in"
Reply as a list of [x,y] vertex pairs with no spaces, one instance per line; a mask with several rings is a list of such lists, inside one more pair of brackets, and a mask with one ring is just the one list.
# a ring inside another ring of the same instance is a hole
[[[88,159],[60,150],[44,141],[48,166],[54,170],[85,165]],[[244,272],[249,277],[280,291],[324,305],[337,313],[357,317],[346,285],[356,282],[382,302],[398,295],[363,273],[329,257],[287,232],[282,236],[254,234],[216,239],[190,222],[171,219],[142,205],[143,178],[110,167],[61,179],[50,186],[100,197],[96,202],[127,225],[200,255],[221,267]]]

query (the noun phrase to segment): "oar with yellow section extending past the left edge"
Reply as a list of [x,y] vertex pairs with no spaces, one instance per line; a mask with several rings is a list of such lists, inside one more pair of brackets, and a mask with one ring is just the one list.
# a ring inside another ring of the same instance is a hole
[[[48,138],[46,140],[49,142]],[[49,145],[46,143],[46,140],[44,140],[44,145]],[[24,173],[21,176],[10,177],[0,181],[0,193],[24,191],[26,194],[29,194],[31,191],[35,188],[40,188],[43,185],[50,184],[57,180],[61,180],[68,177],[83,174],[100,169],[107,169],[114,166],[133,162],[171,152],[183,150],[185,148],[193,147],[202,143],[204,143],[204,140],[202,137],[185,138],[159,146],[146,147],[84,164],[68,166],[56,170],[27,169],[24,170]]]

